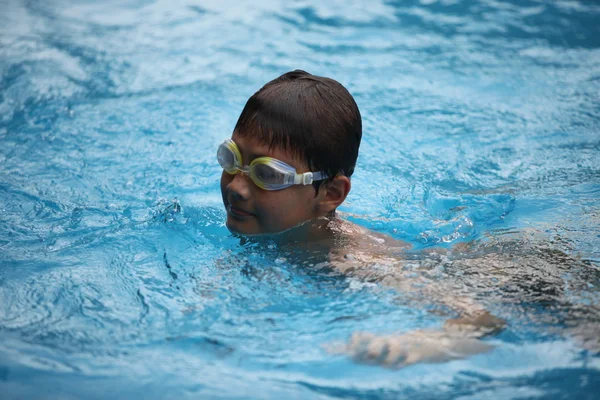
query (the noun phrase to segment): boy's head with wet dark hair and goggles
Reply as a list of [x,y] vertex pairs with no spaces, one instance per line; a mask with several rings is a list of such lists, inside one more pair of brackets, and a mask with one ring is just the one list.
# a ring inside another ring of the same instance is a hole
[[[227,155],[237,154],[238,166],[256,162],[245,173],[223,171],[228,228],[242,234],[275,233],[334,212],[350,191],[361,136],[358,107],[333,79],[296,70],[267,83],[246,103],[231,138],[235,144],[229,143],[233,151]],[[292,167],[292,181],[294,174],[309,171],[315,173],[314,181],[308,183],[310,174],[308,179],[298,175],[296,182],[305,184],[265,190],[259,187],[261,178],[273,178],[276,172],[269,167],[278,164],[260,157]]]

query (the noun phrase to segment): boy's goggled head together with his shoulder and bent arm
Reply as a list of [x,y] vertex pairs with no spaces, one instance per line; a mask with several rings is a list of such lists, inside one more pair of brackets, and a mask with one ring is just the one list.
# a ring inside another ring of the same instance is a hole
[[[231,139],[218,149],[227,227],[244,236],[277,233],[280,242],[310,246],[313,257],[323,256],[344,273],[410,291],[411,280],[398,264],[408,246],[335,215],[350,192],[361,137],[358,106],[340,83],[300,70],[267,83],[250,97]],[[408,365],[488,349],[474,337],[502,321],[469,299],[448,299],[436,284],[429,286],[427,295],[466,316],[447,324],[461,329],[357,334],[342,350],[362,361]]]

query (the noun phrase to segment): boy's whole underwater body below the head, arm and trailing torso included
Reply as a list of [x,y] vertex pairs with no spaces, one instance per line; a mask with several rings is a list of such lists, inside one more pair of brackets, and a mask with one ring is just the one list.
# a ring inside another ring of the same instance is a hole
[[[243,238],[248,240],[275,242],[278,256],[290,262],[391,288],[402,302],[444,317],[439,329],[392,335],[357,331],[346,343],[324,343],[328,351],[359,362],[404,367],[489,351],[493,341],[483,339],[510,327],[504,319],[510,318],[506,309],[516,304],[526,315],[535,314],[539,306],[566,310],[560,315],[565,326],[555,333],[600,352],[600,308],[590,304],[575,316],[567,312],[588,284],[600,283],[600,275],[585,260],[553,249],[541,232],[414,251],[406,242],[332,216],[276,235]],[[572,274],[574,266],[589,275],[574,277],[571,289],[576,290],[567,292],[563,276]]]

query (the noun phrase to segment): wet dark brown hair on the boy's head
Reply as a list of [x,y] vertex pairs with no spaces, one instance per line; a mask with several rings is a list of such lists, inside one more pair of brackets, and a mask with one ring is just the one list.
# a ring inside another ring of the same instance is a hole
[[[295,70],[268,82],[246,102],[235,132],[305,160],[329,179],[354,172],[362,120],[339,82]],[[320,182],[315,182],[318,189]]]

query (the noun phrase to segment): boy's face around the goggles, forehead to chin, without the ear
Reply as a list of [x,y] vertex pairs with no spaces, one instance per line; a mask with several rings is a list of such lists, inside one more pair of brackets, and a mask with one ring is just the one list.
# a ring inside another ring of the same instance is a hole
[[[306,162],[280,149],[269,149],[269,146],[242,138],[235,132],[231,139],[240,149],[244,165],[249,165],[255,158],[268,156],[291,165],[297,173],[309,171]],[[236,233],[276,233],[321,216],[320,196],[315,196],[313,185],[263,190],[245,174],[230,175],[223,171],[221,194],[227,210],[227,227]]]

